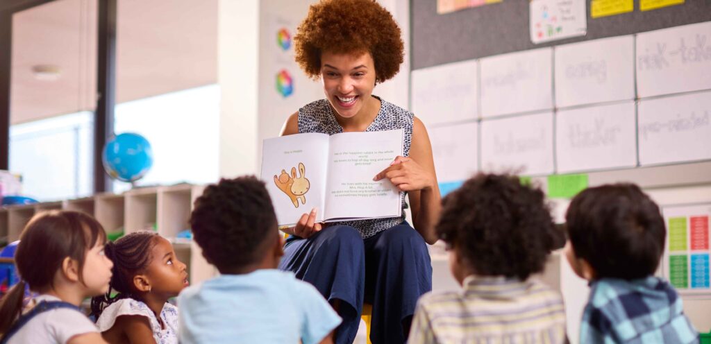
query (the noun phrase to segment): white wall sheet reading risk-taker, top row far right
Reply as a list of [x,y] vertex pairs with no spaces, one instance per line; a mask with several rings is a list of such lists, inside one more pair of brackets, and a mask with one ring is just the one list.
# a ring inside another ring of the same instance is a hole
[[638,97],[711,89],[711,22],[637,35]]

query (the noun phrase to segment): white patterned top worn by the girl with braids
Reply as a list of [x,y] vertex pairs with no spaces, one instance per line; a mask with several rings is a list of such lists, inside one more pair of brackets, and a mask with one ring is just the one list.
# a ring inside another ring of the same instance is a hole
[[114,326],[116,318],[119,316],[145,316],[151,323],[156,344],[178,343],[178,307],[170,303],[166,303],[161,311],[161,319],[165,328],[161,327],[161,323],[146,303],[134,299],[121,299],[110,304],[101,313],[96,321],[96,326],[101,332],[109,330]]

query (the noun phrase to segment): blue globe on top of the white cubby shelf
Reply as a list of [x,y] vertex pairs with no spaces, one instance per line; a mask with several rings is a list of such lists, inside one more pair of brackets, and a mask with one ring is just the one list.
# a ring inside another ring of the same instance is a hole
[[102,161],[112,178],[134,182],[153,166],[153,150],[148,140],[139,134],[119,134],[104,146]]

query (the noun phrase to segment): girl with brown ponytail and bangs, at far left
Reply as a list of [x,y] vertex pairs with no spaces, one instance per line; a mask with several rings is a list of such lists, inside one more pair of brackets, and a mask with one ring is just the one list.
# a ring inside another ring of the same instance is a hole
[[[106,343],[79,309],[109,289],[106,234],[89,215],[52,210],[26,225],[15,254],[21,281],[0,304],[0,343]],[[39,296],[21,313],[26,285]]]

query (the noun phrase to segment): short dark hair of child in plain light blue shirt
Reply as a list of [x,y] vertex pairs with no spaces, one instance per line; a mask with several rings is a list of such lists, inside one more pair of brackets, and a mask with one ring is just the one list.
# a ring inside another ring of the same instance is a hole
[[195,201],[190,224],[208,262],[232,272],[257,262],[262,242],[277,235],[277,215],[264,183],[254,176],[221,179]]

